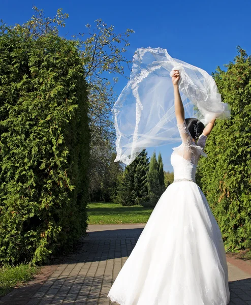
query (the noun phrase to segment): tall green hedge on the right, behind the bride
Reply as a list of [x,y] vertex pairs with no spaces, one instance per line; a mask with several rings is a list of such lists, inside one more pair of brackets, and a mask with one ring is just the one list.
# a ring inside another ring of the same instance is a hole
[[251,248],[251,58],[238,51],[227,71],[214,73],[231,119],[216,120],[198,173],[229,251]]

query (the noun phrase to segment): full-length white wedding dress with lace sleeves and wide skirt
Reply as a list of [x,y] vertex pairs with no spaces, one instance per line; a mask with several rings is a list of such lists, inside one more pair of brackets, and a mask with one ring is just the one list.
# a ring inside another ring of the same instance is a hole
[[228,267],[221,231],[195,182],[206,136],[185,122],[174,148],[174,182],[154,207],[107,297],[121,305],[227,305]]

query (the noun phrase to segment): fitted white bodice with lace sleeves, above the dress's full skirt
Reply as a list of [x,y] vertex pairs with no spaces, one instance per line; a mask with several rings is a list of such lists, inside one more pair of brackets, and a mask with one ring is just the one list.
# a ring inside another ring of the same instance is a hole
[[202,134],[196,144],[187,129],[185,121],[177,126],[182,139],[182,144],[173,148],[174,151],[171,155],[174,180],[188,179],[195,182],[195,174],[199,158],[201,155],[207,157],[204,153],[207,136]]

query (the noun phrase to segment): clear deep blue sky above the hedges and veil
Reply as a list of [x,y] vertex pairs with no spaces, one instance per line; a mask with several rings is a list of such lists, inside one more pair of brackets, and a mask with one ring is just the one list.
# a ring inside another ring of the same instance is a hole
[[[69,14],[64,32],[69,35],[84,32],[85,24],[103,19],[114,25],[116,32],[134,29],[130,37],[127,57],[132,58],[139,47],[166,48],[174,57],[206,70],[209,74],[217,66],[233,60],[240,45],[251,53],[251,2],[232,0],[195,1],[36,1],[2,0],[0,19],[8,24],[23,23],[33,15],[33,6],[44,9],[46,16],[54,16],[58,8]],[[127,83],[120,78],[117,94]],[[151,155],[154,149],[148,149]],[[170,146],[161,151],[164,169],[170,165]]]

